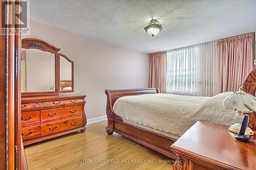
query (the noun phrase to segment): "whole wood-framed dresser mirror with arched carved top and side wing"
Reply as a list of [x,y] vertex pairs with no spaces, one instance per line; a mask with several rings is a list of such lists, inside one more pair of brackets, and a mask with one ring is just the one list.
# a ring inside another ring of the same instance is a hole
[[22,40],[22,96],[74,92],[74,62],[59,51],[40,39]]

